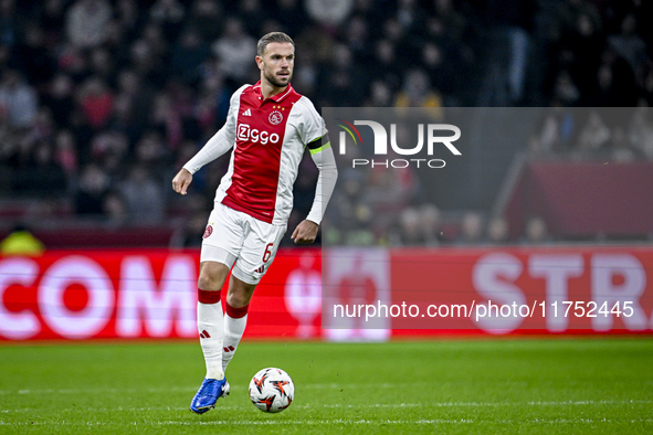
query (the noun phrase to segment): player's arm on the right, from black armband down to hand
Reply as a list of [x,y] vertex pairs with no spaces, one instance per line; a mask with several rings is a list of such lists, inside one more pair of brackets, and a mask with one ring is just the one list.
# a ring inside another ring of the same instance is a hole
[[317,230],[327,203],[334,193],[336,180],[338,179],[338,169],[336,167],[336,159],[328,135],[317,138],[307,145],[310,151],[310,158],[315,162],[319,171],[317,177],[317,187],[315,189],[315,199],[313,206],[306,220],[302,221],[291,238],[297,244],[306,244],[315,242],[317,237]]

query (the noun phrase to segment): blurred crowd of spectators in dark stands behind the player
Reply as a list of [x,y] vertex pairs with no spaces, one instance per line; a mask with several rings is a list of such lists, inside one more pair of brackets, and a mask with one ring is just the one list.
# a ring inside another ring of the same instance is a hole
[[[0,0],[0,198],[117,226],[177,220],[172,243],[197,245],[227,160],[201,171],[188,198],[170,180],[222,126],[230,95],[259,79],[256,41],[278,30],[297,44],[293,86],[318,109],[550,106],[525,149],[651,159],[647,116],[620,131],[597,113],[569,134],[565,112],[653,103],[651,17],[646,0]],[[629,145],[633,135],[646,145]],[[307,160],[291,226],[315,177]],[[411,202],[410,176],[355,178],[343,178],[334,206],[359,243],[506,237],[505,221],[472,211],[447,238],[436,205]],[[406,208],[385,214],[391,201]],[[370,233],[372,221],[389,230]],[[534,217],[524,238],[546,241],[541,226]]]

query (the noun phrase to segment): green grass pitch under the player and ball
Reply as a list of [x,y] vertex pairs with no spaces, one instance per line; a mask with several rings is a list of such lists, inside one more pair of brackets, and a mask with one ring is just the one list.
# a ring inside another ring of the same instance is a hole
[[[251,376],[295,381],[281,414],[257,411]],[[194,342],[4,344],[0,433],[653,433],[653,339],[255,342],[215,410],[188,410],[203,376]]]

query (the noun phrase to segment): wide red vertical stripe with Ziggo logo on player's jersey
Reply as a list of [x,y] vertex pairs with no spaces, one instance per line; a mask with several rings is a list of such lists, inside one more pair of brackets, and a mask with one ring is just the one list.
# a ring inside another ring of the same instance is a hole
[[272,223],[284,132],[293,104],[299,98],[301,95],[291,86],[263,103],[260,86],[243,91],[236,123],[232,182],[222,200],[224,205]]

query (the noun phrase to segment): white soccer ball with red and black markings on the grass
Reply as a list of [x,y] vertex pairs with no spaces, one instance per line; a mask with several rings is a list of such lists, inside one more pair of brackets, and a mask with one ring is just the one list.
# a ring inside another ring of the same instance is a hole
[[281,369],[263,369],[250,382],[250,399],[263,412],[282,412],[295,399],[295,384]]

